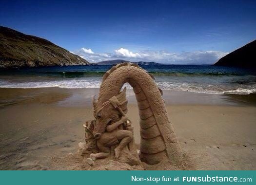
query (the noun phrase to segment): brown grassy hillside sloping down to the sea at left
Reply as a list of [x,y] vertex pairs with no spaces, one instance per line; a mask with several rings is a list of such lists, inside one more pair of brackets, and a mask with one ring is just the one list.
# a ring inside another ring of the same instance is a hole
[[46,39],[0,26],[0,68],[89,64]]

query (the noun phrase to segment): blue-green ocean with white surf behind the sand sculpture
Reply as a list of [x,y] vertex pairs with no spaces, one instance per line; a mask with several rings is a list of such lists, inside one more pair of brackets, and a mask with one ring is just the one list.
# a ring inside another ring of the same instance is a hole
[[[98,88],[111,65],[0,70],[0,88]],[[162,90],[211,94],[256,93],[255,69],[213,65],[142,65]],[[129,85],[126,85],[131,88]]]

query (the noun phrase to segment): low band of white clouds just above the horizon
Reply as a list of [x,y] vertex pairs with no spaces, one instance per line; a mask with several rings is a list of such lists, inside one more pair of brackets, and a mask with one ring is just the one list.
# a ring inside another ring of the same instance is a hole
[[81,48],[73,53],[92,63],[104,60],[124,59],[134,62],[154,61],[164,64],[213,64],[217,62],[219,58],[228,54],[221,51],[172,53],[167,51],[144,50],[131,52],[125,48],[119,48],[113,53],[95,53],[91,49]]

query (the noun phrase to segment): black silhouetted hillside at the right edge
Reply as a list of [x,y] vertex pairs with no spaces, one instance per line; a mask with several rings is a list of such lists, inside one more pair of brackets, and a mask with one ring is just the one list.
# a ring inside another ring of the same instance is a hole
[[214,65],[256,68],[256,40],[223,56]]

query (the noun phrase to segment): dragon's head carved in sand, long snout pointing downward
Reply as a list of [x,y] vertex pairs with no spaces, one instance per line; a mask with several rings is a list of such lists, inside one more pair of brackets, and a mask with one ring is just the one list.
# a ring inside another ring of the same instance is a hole
[[126,100],[126,88],[101,105],[98,105],[95,97],[93,98],[93,111],[95,117],[93,136],[95,139],[99,139],[105,132],[106,127],[111,123],[117,122],[122,116],[121,112],[116,108],[113,102],[121,111],[123,111],[123,113],[127,113],[128,101]]

